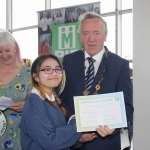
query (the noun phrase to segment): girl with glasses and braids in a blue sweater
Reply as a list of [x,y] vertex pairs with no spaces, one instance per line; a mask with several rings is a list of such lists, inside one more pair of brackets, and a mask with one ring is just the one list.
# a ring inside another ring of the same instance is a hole
[[21,119],[21,137],[24,150],[68,150],[81,146],[95,134],[77,133],[75,119],[66,124],[66,111],[55,91],[60,94],[65,85],[65,72],[54,55],[41,55],[32,64],[34,89],[27,98]]

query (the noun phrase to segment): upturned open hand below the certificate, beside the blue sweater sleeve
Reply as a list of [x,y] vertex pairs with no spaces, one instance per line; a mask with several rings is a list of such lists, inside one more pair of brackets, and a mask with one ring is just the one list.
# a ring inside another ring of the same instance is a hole
[[84,142],[89,142],[94,140],[97,137],[96,133],[84,133],[79,139],[79,142],[84,143]]

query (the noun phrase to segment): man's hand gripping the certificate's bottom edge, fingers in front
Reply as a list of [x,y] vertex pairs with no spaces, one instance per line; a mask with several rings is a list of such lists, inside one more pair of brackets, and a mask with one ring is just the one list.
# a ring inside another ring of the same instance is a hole
[[108,135],[113,134],[115,129],[109,129],[106,125],[104,125],[104,127],[99,125],[99,128],[96,128],[96,131],[100,136],[106,137]]

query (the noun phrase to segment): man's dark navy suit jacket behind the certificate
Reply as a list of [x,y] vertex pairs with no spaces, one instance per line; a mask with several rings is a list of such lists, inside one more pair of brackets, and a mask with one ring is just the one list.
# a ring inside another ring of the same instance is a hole
[[[60,98],[67,110],[67,118],[75,113],[73,96],[83,96],[85,87],[84,59],[84,52],[82,50],[65,55],[63,59],[63,66],[66,72],[66,86]],[[133,105],[129,62],[111,53],[105,47],[105,53],[89,95],[93,95],[95,92],[95,85],[98,83],[101,75],[103,76],[103,80],[100,83],[101,88],[98,94],[123,91],[127,120],[132,120]],[[121,150],[120,129],[116,129],[112,135],[105,138],[98,135],[95,140],[83,144],[81,149]]]

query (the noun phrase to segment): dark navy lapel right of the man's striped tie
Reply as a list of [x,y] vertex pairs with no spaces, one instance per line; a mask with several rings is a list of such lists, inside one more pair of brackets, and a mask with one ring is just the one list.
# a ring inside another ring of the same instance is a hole
[[89,95],[92,95],[95,92],[95,86],[97,85],[97,83],[98,83],[101,75],[103,74],[103,71],[105,70],[105,68],[106,68],[106,66],[107,66],[107,64],[109,62],[108,54],[107,53],[108,53],[108,51],[105,50],[103,58],[102,58],[102,61],[100,63],[100,66],[99,66],[98,71],[96,73],[96,76],[94,78],[91,90],[89,92]]

